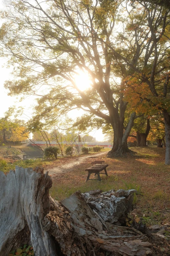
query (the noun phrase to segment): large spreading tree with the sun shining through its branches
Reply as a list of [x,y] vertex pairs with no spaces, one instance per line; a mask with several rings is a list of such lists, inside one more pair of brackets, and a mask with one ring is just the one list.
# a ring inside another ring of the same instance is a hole
[[[0,33],[3,53],[14,65],[16,77],[6,82],[10,95],[38,95],[37,109],[44,119],[60,118],[75,108],[88,112],[89,119],[103,119],[114,130],[110,156],[128,151],[127,137],[135,119],[132,111],[124,130],[128,103],[121,90],[131,70],[111,65],[117,57],[107,45],[121,50],[116,36],[122,8],[120,0],[100,5],[97,0],[8,0]],[[76,83],[80,71],[91,80],[88,90]]]

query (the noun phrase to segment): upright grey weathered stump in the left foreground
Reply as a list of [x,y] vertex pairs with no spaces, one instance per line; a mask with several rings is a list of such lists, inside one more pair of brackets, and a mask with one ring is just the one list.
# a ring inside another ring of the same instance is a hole
[[[16,166],[7,176],[0,172],[0,255],[7,256],[19,247],[22,232],[25,242],[31,239],[36,256],[56,256],[53,240],[41,220],[50,211],[48,172]],[[24,230],[29,228],[30,237]]]

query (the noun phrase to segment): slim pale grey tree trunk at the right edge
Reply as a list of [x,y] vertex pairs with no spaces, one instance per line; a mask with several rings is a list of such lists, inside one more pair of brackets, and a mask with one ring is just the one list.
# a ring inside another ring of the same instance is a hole
[[163,111],[164,123],[165,123],[165,141],[166,141],[166,150],[165,150],[165,164],[170,164],[170,115],[164,110]]

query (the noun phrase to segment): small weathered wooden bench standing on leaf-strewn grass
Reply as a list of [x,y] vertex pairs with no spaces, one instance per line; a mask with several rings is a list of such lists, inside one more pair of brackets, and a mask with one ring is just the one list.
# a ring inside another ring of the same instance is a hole
[[[98,179],[101,181],[101,178],[100,178],[100,174],[105,174],[107,175],[107,171],[106,171],[106,167],[108,166],[108,164],[104,164],[105,161],[94,161],[94,162],[91,162],[92,163],[92,167],[86,169],[85,171],[88,171],[88,176],[87,176],[87,179],[86,181],[89,180],[90,178],[90,175],[92,173],[95,173],[94,176],[98,176]],[[100,173],[101,171],[105,170],[105,173]],[[108,176],[108,175],[107,175]]]

